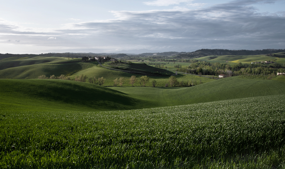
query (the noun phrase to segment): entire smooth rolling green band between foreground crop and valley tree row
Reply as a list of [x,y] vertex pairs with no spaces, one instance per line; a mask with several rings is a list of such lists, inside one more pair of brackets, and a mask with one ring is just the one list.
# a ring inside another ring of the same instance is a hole
[[124,110],[285,94],[285,77],[229,77],[193,87],[103,87],[52,79],[0,80],[1,105],[78,111]]

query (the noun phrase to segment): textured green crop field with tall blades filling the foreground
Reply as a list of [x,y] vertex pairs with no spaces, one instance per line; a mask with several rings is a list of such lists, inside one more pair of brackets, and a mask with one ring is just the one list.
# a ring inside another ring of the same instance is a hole
[[0,168],[284,168],[284,100],[109,112],[1,105]]

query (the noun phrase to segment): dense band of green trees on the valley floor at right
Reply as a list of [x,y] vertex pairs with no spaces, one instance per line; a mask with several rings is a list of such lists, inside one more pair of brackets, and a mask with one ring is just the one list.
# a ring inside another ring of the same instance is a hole
[[228,76],[237,75],[271,75],[277,72],[284,72],[284,64],[242,64],[229,65],[227,63],[209,63],[206,61],[192,60],[188,67],[178,68],[177,71],[200,74],[200,75],[219,75],[225,74]]

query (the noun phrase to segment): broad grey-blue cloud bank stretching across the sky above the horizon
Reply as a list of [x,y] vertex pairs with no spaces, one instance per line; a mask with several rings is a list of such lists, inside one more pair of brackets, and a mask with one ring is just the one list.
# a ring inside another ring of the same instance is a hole
[[[115,19],[68,23],[56,29],[27,28],[0,20],[0,35],[6,43],[8,39],[21,39],[19,44],[25,43],[30,49],[45,46],[49,52],[143,48],[159,51],[284,49],[285,12],[265,15],[251,6],[268,2],[276,1],[238,0],[195,10],[111,11]],[[187,4],[191,6],[190,1]],[[42,37],[57,39],[46,41]]]

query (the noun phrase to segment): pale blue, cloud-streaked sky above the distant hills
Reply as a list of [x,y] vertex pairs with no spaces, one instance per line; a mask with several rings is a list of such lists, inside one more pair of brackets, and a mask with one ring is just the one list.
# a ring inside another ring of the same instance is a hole
[[0,4],[0,53],[285,49],[285,0],[9,0]]

